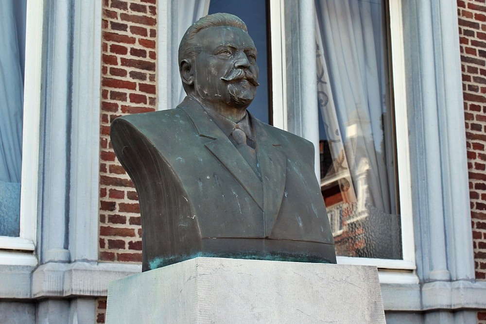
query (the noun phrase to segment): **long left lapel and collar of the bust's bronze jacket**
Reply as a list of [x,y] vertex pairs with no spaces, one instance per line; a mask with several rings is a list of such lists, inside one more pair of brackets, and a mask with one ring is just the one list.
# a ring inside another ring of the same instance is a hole
[[264,200],[260,179],[228,137],[210,119],[200,103],[191,97],[186,97],[177,108],[182,109],[189,116],[199,136],[209,139],[204,146],[233,175],[263,210]]

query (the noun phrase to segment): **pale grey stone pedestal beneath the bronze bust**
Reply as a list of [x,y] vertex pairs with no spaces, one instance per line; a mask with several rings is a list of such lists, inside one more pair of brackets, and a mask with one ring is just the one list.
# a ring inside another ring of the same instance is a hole
[[376,267],[198,257],[110,284],[106,323],[385,323]]

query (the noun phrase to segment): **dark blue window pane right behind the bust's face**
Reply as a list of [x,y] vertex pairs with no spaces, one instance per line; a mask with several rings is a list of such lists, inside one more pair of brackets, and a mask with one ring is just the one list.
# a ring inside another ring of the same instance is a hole
[[263,122],[271,123],[269,118],[269,69],[268,69],[268,36],[267,36],[267,1],[266,0],[210,0],[209,14],[218,12],[240,17],[248,28],[258,52],[260,76],[257,95],[248,107],[250,113]]

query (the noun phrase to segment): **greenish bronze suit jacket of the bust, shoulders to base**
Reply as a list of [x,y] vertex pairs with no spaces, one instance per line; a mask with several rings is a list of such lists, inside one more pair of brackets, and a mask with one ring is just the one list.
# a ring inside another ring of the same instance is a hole
[[191,97],[113,121],[139,194],[143,271],[194,256],[336,262],[312,144],[250,119],[261,181]]

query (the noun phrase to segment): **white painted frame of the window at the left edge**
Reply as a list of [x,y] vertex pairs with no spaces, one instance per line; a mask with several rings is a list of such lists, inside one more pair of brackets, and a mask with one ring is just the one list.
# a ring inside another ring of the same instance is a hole
[[4,265],[37,264],[33,252],[37,231],[43,8],[44,0],[27,1],[25,75],[28,77],[24,78],[20,233],[18,237],[0,237],[0,263]]

